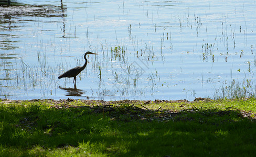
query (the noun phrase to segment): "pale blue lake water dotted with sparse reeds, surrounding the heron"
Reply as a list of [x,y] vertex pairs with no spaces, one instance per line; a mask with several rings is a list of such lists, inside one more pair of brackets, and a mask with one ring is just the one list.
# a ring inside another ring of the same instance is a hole
[[[0,98],[255,94],[255,1],[15,1],[0,5]],[[88,64],[73,78],[58,76]]]

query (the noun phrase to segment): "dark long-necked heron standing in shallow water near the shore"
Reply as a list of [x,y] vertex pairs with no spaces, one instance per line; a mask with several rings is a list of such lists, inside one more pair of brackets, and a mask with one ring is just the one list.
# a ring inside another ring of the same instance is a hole
[[70,70],[68,70],[67,72],[59,75],[59,79],[62,78],[62,77],[74,77],[74,80],[73,80],[73,83],[74,83],[74,86],[76,87],[77,86],[77,81],[76,81],[76,77],[77,75],[82,71],[84,70],[84,68],[86,68],[86,65],[87,65],[87,59],[86,59],[86,55],[87,54],[98,54],[98,53],[92,53],[90,51],[87,51],[85,54],[84,54],[84,59],[86,60],[86,63],[84,63],[83,66],[77,66],[76,68],[72,68]]

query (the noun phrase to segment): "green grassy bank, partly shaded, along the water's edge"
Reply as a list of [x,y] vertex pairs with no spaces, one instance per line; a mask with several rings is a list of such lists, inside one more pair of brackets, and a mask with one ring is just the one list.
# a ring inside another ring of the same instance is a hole
[[108,103],[2,101],[0,156],[256,154],[255,98]]

